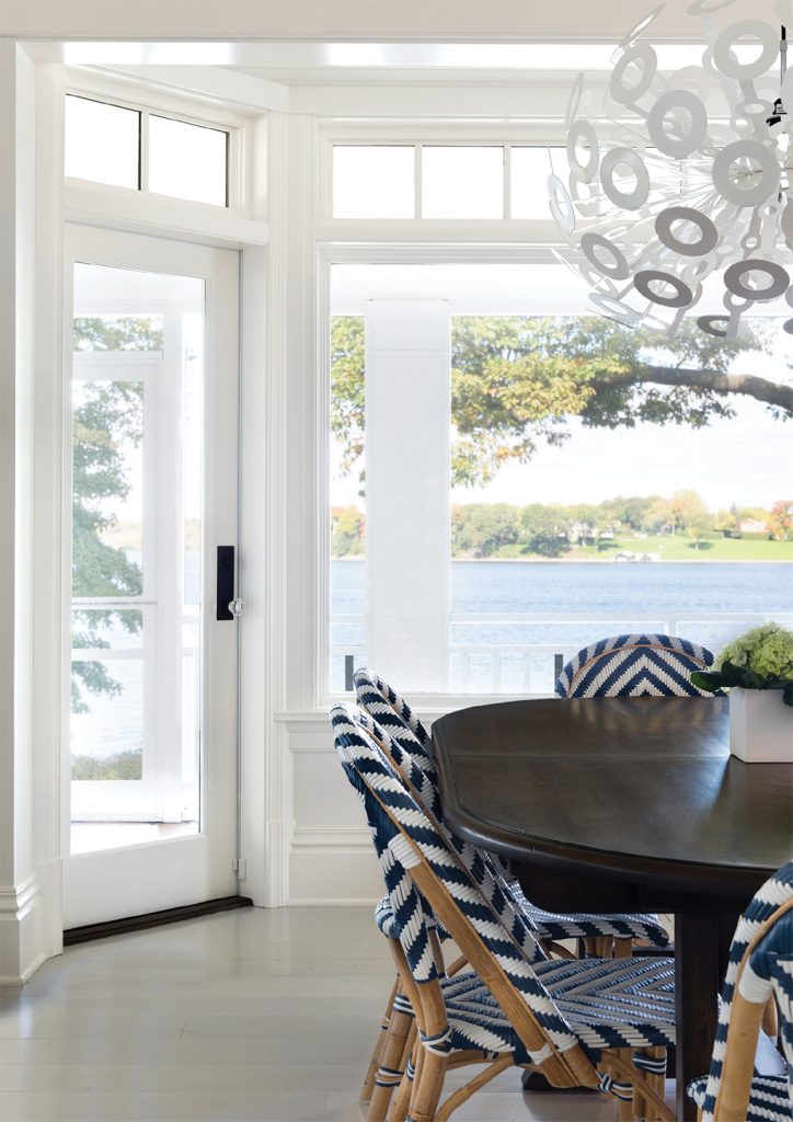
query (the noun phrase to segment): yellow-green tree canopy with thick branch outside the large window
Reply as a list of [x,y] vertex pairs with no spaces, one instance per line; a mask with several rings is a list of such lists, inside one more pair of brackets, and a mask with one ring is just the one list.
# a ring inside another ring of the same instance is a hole
[[[452,481],[481,485],[510,461],[590,427],[638,423],[702,427],[734,415],[734,395],[793,417],[793,385],[734,373],[741,355],[764,352],[773,327],[758,321],[736,339],[688,322],[673,338],[628,330],[601,316],[460,316],[452,330]],[[363,449],[363,320],[332,323],[331,426],[350,471]]]

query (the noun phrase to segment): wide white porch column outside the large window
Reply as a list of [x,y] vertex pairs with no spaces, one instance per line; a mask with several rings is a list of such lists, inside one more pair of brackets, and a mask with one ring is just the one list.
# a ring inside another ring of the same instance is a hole
[[399,692],[449,678],[451,324],[440,300],[366,313],[368,661]]

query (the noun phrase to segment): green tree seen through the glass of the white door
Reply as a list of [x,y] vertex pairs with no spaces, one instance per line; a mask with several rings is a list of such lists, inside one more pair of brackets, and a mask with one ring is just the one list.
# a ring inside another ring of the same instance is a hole
[[[153,316],[77,319],[74,349],[162,350],[163,331]],[[140,596],[142,571],[104,536],[117,525],[113,507],[130,493],[123,445],[142,439],[142,386],[139,381],[84,381],[75,387],[72,482],[72,595]],[[107,650],[107,631],[118,623],[129,634],[142,627],[138,608],[75,608],[72,646]],[[121,686],[96,661],[75,662],[72,711],[85,712],[89,695],[116,696]]]

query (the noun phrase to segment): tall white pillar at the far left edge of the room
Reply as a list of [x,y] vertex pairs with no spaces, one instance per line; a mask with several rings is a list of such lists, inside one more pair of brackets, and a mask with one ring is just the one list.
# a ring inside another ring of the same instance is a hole
[[35,70],[0,38],[0,983],[43,960],[33,834]]

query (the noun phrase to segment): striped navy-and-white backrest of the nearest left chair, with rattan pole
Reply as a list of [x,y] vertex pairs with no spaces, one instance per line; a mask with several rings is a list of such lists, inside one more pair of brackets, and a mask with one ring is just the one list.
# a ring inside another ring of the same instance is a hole
[[388,839],[381,868],[415,981],[433,981],[437,969],[426,949],[431,940],[421,910],[425,899],[487,982],[532,1061],[546,1069],[552,1082],[597,1086],[591,1061],[532,963],[394,764],[352,716],[345,706],[333,708],[334,743],[370,825]]

